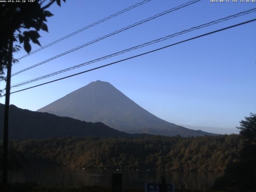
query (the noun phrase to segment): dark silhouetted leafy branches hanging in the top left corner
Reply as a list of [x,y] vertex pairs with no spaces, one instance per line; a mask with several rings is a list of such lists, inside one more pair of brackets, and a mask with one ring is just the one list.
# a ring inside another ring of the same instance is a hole
[[[9,53],[10,42],[17,42],[13,46],[12,53],[20,50],[19,44],[23,44],[24,50],[29,53],[31,51],[30,40],[40,45],[38,31],[48,32],[46,18],[53,16],[46,9],[54,2],[60,6],[60,1],[33,0],[33,2],[4,2],[0,4],[0,79],[5,79],[4,70],[11,54]],[[66,0],[63,1],[66,2]],[[12,58],[12,63],[15,62],[17,60]]]

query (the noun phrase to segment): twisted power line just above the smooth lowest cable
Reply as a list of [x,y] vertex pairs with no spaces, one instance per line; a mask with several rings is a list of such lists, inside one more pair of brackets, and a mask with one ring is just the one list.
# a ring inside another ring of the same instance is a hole
[[45,78],[48,78],[48,77],[51,77],[51,76],[54,76],[54,75],[57,75],[57,74],[60,74],[60,73],[63,73],[63,72],[67,72],[69,70],[80,68],[80,67],[86,66],[88,64],[92,64],[92,63],[95,63],[95,62],[98,62],[98,61],[101,61],[101,60],[104,60],[104,59],[107,59],[107,58],[110,58],[110,57],[113,57],[113,56],[117,56],[117,55],[129,52],[131,50],[135,50],[135,49],[138,49],[138,48],[142,48],[144,46],[148,46],[148,45],[151,45],[151,44],[154,44],[154,43],[158,43],[158,42],[167,40],[169,38],[172,38],[172,37],[175,37],[175,36],[178,36],[178,35],[190,32],[190,31],[193,31],[193,30],[204,28],[206,26],[211,26],[213,24],[217,24],[219,22],[223,22],[223,21],[226,21],[226,20],[229,20],[229,19],[232,19],[232,18],[236,18],[236,17],[242,16],[242,15],[246,15],[246,14],[249,14],[249,13],[252,13],[252,12],[255,12],[255,11],[256,11],[256,8],[250,9],[250,10],[246,10],[246,11],[240,12],[238,14],[234,14],[234,15],[231,15],[231,16],[228,16],[228,17],[225,17],[225,18],[221,18],[221,19],[218,19],[218,20],[215,20],[215,21],[212,21],[212,22],[208,22],[208,23],[202,24],[200,26],[192,27],[190,29],[183,30],[181,32],[177,32],[177,33],[174,33],[174,34],[171,34],[171,35],[165,36],[163,38],[159,38],[159,39],[156,39],[156,40],[144,43],[144,44],[140,44],[138,46],[134,46],[132,48],[128,48],[128,49],[125,49],[125,50],[122,50],[122,51],[119,51],[119,52],[116,52],[116,53],[113,53],[113,54],[110,54],[110,55],[107,55],[107,56],[104,56],[104,57],[101,57],[101,58],[98,58],[98,59],[95,59],[95,60],[84,62],[82,64],[79,64],[79,65],[76,65],[76,66],[72,66],[72,67],[69,67],[69,68],[66,68],[66,69],[63,69],[63,70],[59,70],[57,72],[53,72],[53,73],[50,73],[50,74],[47,74],[47,75],[44,75],[44,76],[40,76],[40,77],[37,77],[37,78],[33,78],[33,79],[30,79],[30,80],[19,82],[19,83],[13,84],[11,87],[18,87],[18,86],[29,84],[29,83],[32,83],[32,82],[35,82],[35,81],[38,81],[38,80],[42,80],[42,79],[45,79]]

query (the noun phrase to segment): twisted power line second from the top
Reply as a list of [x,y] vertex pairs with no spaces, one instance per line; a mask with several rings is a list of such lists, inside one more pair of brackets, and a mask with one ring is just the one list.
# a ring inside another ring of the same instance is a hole
[[90,41],[90,42],[88,42],[88,43],[85,43],[85,44],[83,44],[83,45],[80,45],[80,46],[78,46],[78,47],[76,47],[76,48],[73,48],[73,49],[68,50],[68,51],[66,51],[66,52],[63,52],[63,53],[61,53],[61,54],[58,54],[58,55],[56,55],[56,56],[54,56],[54,57],[52,57],[52,58],[49,58],[49,59],[47,59],[47,60],[44,60],[44,61],[42,61],[42,62],[40,62],[40,63],[38,63],[38,64],[35,64],[35,65],[32,65],[32,66],[30,66],[30,67],[28,67],[28,68],[25,68],[25,69],[23,69],[23,70],[20,70],[20,71],[18,71],[18,72],[16,72],[16,73],[12,74],[12,76],[17,75],[17,74],[19,74],[19,73],[21,73],[21,72],[24,72],[24,71],[26,71],[26,70],[29,70],[29,69],[31,69],[31,68],[34,68],[34,67],[36,67],[36,66],[42,65],[42,64],[44,64],[44,63],[46,63],[46,62],[49,62],[49,61],[51,61],[51,60],[53,60],[53,59],[56,59],[56,58],[60,57],[60,56],[69,54],[69,53],[71,53],[71,52],[73,52],[73,51],[76,51],[76,50],[78,50],[78,49],[80,49],[80,48],[83,48],[83,47],[85,47],[85,46],[88,46],[88,45],[90,45],[90,44],[93,44],[93,43],[95,43],[95,42],[98,42],[98,41],[100,41],[100,40],[102,40],[102,39],[108,38],[109,36],[112,36],[112,35],[114,35],[114,34],[120,33],[120,32],[122,32],[122,31],[124,31],[124,30],[128,30],[128,29],[130,29],[130,28],[132,28],[132,27],[134,27],[134,26],[140,25],[140,24],[142,24],[142,23],[144,23],[144,22],[148,22],[148,21],[150,21],[150,20],[152,20],[152,19],[155,19],[155,18],[158,18],[158,17],[160,17],[160,16],[163,16],[163,15],[165,15],[165,14],[167,14],[167,13],[170,13],[170,12],[173,12],[173,11],[178,10],[178,9],[180,9],[180,8],[183,8],[183,7],[186,7],[186,6],[188,6],[188,5],[194,4],[194,3],[198,2],[198,1],[201,1],[201,0],[192,0],[192,1],[190,1],[190,2],[187,2],[187,3],[185,3],[185,4],[182,4],[182,5],[177,6],[177,7],[175,7],[175,8],[172,8],[172,9],[170,9],[170,10],[164,11],[164,12],[162,12],[162,13],[160,13],[160,14],[156,14],[156,15],[154,15],[154,16],[152,16],[152,17],[149,17],[149,18],[146,18],[146,19],[141,20],[141,21],[139,21],[139,22],[136,22],[136,23],[134,23],[134,24],[132,24],[132,25],[129,25],[129,26],[127,26],[127,27],[124,27],[124,28],[122,28],[122,29],[120,29],[120,30],[116,30],[115,32],[112,32],[112,33],[110,33],[110,34],[108,34],[108,35],[102,36],[102,37],[100,37],[100,38],[98,38],[98,39],[95,39],[95,40],[93,40],[93,41]]

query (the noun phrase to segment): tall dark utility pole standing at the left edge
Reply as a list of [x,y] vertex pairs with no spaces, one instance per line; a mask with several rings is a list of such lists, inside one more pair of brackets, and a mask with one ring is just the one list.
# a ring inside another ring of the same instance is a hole
[[6,92],[5,92],[5,106],[4,106],[4,154],[3,154],[3,192],[7,192],[7,166],[8,166],[8,129],[9,129],[9,105],[10,105],[10,86],[12,73],[12,36],[10,36],[8,62],[7,62],[7,76],[6,76]]

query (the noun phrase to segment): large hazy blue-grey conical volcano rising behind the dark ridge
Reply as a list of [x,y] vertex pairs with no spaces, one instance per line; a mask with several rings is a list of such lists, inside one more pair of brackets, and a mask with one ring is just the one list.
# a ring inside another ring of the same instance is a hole
[[146,111],[108,82],[96,81],[38,110],[104,124],[128,133],[167,136],[211,134],[166,122]]

